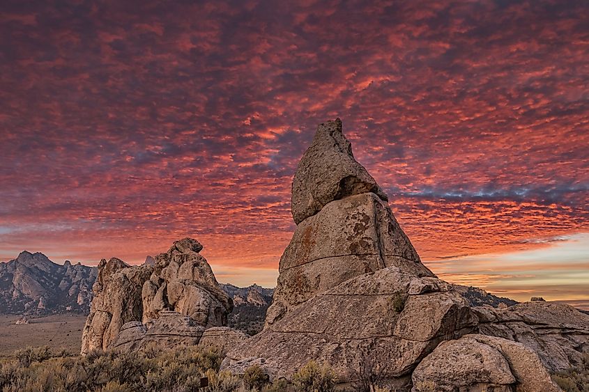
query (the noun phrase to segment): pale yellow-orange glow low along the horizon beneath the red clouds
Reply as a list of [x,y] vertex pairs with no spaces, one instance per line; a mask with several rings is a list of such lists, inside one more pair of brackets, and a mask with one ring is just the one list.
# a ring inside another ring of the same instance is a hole
[[[586,284],[589,282],[589,233],[565,235],[552,239],[551,242],[539,240],[537,243],[540,246],[537,249],[423,262],[440,279],[450,283],[472,285],[516,301],[544,297],[546,301],[563,301],[589,310],[589,285]],[[207,257],[206,251],[202,253]],[[61,260],[55,258],[53,253],[47,253],[47,257],[54,262]],[[218,256],[212,258],[218,260]],[[275,268],[261,268],[211,262],[211,256],[208,261],[220,283],[230,283],[238,287],[254,283],[267,288],[274,288],[276,285],[277,262]],[[254,263],[255,260],[251,262]],[[97,263],[82,264],[95,266]],[[130,264],[136,265],[140,262]]]

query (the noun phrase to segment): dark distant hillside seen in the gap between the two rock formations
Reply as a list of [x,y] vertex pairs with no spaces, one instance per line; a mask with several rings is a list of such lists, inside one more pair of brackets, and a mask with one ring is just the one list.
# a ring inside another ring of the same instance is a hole
[[249,335],[261,331],[268,306],[272,304],[274,289],[263,288],[257,284],[246,288],[238,288],[230,284],[220,286],[234,302],[234,310],[229,315],[229,327]]

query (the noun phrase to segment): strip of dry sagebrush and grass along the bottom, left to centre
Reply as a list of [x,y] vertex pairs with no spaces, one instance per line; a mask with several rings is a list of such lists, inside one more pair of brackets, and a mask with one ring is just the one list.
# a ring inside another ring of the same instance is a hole
[[259,366],[241,377],[220,371],[219,352],[181,347],[168,352],[102,352],[72,356],[49,347],[27,347],[0,359],[3,392],[192,392],[200,391],[202,377],[207,392],[330,392],[335,374],[327,366],[308,363],[296,374],[296,383],[270,382]]

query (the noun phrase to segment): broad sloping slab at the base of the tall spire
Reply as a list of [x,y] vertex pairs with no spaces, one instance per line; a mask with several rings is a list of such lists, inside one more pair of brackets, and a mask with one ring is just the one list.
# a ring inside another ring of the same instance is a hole
[[441,340],[473,331],[476,322],[452,285],[386,267],[286,312],[230,351],[223,366],[237,371],[243,360],[259,358],[270,375],[289,378],[309,359],[317,359],[346,382],[369,353],[388,378],[401,378]]

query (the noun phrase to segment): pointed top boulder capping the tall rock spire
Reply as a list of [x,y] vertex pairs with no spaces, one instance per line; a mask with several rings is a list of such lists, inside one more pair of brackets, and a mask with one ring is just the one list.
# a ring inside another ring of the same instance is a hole
[[292,212],[296,224],[331,201],[367,192],[388,200],[374,178],[355,161],[352,146],[342,133],[342,120],[319,124],[293,180]]

